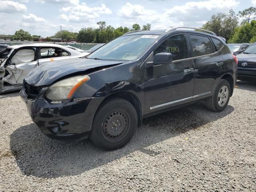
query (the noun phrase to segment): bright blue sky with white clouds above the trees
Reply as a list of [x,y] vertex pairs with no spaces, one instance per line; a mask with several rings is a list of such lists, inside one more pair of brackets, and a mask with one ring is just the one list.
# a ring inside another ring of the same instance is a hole
[[170,26],[201,27],[218,12],[236,13],[256,0],[0,0],[0,34],[23,29],[32,35],[97,28],[97,22],[127,26],[151,24],[151,30]]

